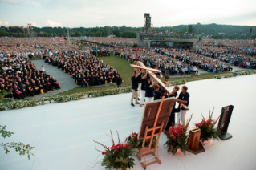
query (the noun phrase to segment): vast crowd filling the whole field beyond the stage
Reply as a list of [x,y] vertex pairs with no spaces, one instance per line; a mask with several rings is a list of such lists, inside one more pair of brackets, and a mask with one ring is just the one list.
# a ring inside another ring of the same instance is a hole
[[[118,85],[121,84],[122,81],[120,81],[121,78],[116,69],[96,57],[109,56],[110,54],[119,55],[131,62],[141,61],[147,67],[159,69],[162,75],[196,75],[198,74],[198,69],[209,72],[225,72],[232,71],[234,66],[256,68],[256,60],[253,57],[256,50],[254,42],[250,41],[219,40],[216,42],[215,40],[207,40],[195,42],[197,49],[173,49],[127,47],[127,43],[136,43],[136,39],[128,38],[87,39],[91,42],[102,44],[112,43],[115,44],[115,47],[98,45],[81,48],[63,40],[63,38],[35,38],[34,41],[30,41],[28,38],[0,38],[2,44],[0,47],[0,59],[3,65],[1,82],[4,80],[4,83],[1,83],[1,85],[4,84],[2,90],[6,90],[8,85],[10,88],[9,83],[11,82],[11,85],[14,86],[13,83],[17,83],[18,78],[21,78],[21,82],[23,81],[22,84],[18,83],[19,90],[24,92],[22,92],[22,95],[13,93],[15,98],[35,95],[55,88],[58,89],[59,84],[53,84],[55,82],[54,78],[47,75],[45,71],[38,71],[33,63],[30,62],[30,59],[36,56],[44,59],[47,64],[51,64],[71,75],[75,83],[81,87],[115,82]],[[28,73],[24,69],[25,67],[29,69]],[[17,68],[22,68],[22,70],[18,71]],[[13,75],[11,75],[12,73]],[[43,79],[41,75],[43,75]],[[12,79],[13,76],[15,79]],[[6,79],[8,79],[8,84],[6,84]],[[26,79],[32,85],[34,93],[30,93],[23,86],[26,83]],[[42,80],[43,83],[49,82],[51,86],[45,86],[47,84],[43,84]],[[37,86],[34,86],[35,84]],[[37,87],[39,87],[39,91]]]

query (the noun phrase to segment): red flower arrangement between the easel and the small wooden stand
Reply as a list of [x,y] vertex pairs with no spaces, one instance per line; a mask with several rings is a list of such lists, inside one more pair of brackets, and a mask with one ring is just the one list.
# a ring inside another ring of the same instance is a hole
[[177,153],[177,149],[181,149],[181,151],[185,153],[185,150],[188,148],[187,142],[189,133],[187,133],[187,129],[191,119],[192,115],[185,125],[179,123],[177,126],[169,127],[168,140],[165,142],[164,146],[165,149],[167,149],[168,152],[172,152],[173,155]]

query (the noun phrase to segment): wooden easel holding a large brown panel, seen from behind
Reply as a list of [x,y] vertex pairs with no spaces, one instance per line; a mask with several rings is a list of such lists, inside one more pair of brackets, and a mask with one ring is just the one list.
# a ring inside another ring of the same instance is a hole
[[[173,105],[175,103],[175,98],[162,97],[160,100],[155,100],[152,103],[147,103],[144,109],[144,115],[142,118],[142,123],[140,126],[139,139],[143,138],[142,149],[140,149],[140,155],[136,155],[138,160],[140,160],[141,166],[146,169],[148,165],[159,163],[161,160],[158,155],[158,141],[161,136],[161,132],[165,131],[165,127],[168,123],[169,116],[173,110]],[[152,147],[153,138],[156,137],[156,146]],[[145,148],[145,141],[150,139],[148,148]],[[157,150],[157,156],[156,156]],[[152,157],[145,159],[145,156],[152,155]],[[144,160],[142,158],[144,157]],[[148,160],[155,159],[152,162]]]

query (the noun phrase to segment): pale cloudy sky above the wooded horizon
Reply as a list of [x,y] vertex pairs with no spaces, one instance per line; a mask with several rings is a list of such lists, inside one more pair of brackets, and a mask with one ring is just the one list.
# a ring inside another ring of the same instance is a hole
[[0,26],[256,26],[256,0],[0,0]]

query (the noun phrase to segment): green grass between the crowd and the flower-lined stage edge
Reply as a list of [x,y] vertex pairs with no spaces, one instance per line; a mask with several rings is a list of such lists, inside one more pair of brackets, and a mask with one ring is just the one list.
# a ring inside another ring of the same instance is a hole
[[[133,71],[133,68],[130,66],[130,63],[125,60],[121,59],[120,57],[111,55],[110,57],[99,57],[99,59],[102,59],[104,63],[109,64],[110,66],[116,68],[116,71],[119,72],[120,77],[123,79],[122,87],[128,87],[131,86],[131,73]],[[170,78],[170,81],[177,80],[177,79],[185,79],[187,82],[197,81],[201,79],[213,79],[214,75],[218,74],[201,74],[201,75],[192,75],[188,78]],[[163,80],[164,78],[162,78]],[[116,88],[116,85],[110,85],[108,87],[77,87],[74,89],[71,89],[69,91],[64,91],[63,93],[59,93],[58,95],[71,95],[74,93],[79,92],[86,92],[86,91],[104,91],[107,89]]]

